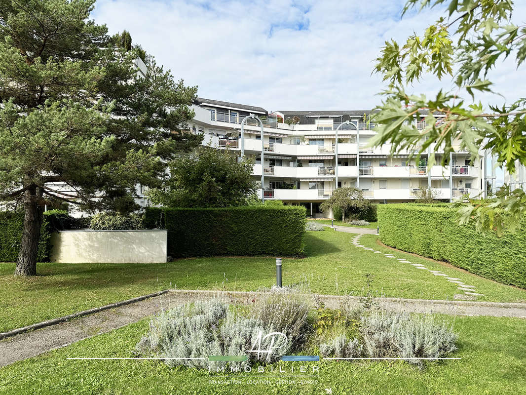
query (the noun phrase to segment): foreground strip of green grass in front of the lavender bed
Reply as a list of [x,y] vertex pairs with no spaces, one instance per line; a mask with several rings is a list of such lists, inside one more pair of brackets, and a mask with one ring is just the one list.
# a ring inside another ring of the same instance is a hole
[[[210,382],[207,371],[170,369],[160,361],[79,361],[69,357],[130,357],[146,333],[148,320],[79,341],[0,369],[0,393],[38,394],[333,394],[478,395],[526,393],[526,320],[445,317],[459,334],[461,360],[429,363],[419,370],[404,362],[279,362],[265,374],[291,374],[295,367],[319,366],[317,383],[268,384]],[[268,366],[267,366],[268,367]],[[279,373],[281,367],[287,373]],[[236,373],[240,376],[258,373]],[[306,374],[306,373],[304,373]],[[250,380],[257,378],[238,380]]]

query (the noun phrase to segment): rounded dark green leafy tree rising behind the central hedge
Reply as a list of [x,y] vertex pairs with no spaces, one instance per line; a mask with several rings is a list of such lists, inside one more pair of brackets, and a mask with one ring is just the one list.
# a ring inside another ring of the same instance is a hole
[[170,207],[229,207],[247,205],[254,195],[254,161],[227,150],[200,146],[170,164],[163,188],[150,189],[153,204]]

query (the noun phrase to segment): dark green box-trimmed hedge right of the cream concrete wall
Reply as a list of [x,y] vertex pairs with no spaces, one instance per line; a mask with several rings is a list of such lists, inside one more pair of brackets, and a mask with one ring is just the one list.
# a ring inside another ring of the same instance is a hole
[[244,206],[211,209],[147,208],[147,228],[168,230],[168,254],[299,255],[305,208]]

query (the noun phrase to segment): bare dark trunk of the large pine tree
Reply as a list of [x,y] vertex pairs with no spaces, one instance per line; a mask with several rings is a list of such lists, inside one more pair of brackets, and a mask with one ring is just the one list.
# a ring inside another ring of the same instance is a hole
[[20,240],[20,252],[16,261],[15,275],[36,275],[36,258],[40,228],[43,220],[43,209],[38,204],[39,188],[36,186],[25,191],[24,228]]

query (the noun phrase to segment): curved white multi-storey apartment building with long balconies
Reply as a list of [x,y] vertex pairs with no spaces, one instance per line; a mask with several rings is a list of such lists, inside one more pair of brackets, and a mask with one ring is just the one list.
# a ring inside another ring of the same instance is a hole
[[[369,111],[275,111],[261,107],[197,98],[191,127],[204,133],[203,144],[232,152],[241,151],[244,124],[244,154],[254,157],[252,173],[265,199],[302,204],[312,216],[321,216],[320,203],[336,187],[358,187],[377,203],[409,202],[420,188],[429,186],[438,199],[453,201],[468,193],[484,195],[491,174],[481,153],[471,163],[469,152],[451,155],[449,165],[427,168],[428,153],[418,163],[411,152],[391,155],[389,144],[372,149],[374,124]],[[415,121],[416,122],[416,121]],[[423,122],[417,123],[420,129]],[[336,137],[336,133],[337,136]],[[418,149],[418,147],[417,147]],[[441,160],[438,151],[437,162]],[[261,154],[263,160],[261,161]],[[262,185],[261,185],[261,180]]]

